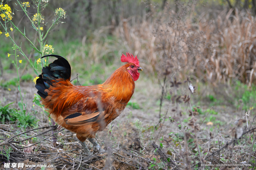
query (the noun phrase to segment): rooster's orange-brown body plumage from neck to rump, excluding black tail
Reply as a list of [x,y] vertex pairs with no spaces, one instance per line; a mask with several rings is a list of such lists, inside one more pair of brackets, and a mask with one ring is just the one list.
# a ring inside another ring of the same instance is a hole
[[120,115],[131,99],[135,88],[127,71],[131,65],[121,66],[103,84],[94,86],[74,86],[70,78],[51,80],[52,85],[45,90],[48,96],[41,98],[42,104],[55,122],[76,133],[80,141],[94,138]]

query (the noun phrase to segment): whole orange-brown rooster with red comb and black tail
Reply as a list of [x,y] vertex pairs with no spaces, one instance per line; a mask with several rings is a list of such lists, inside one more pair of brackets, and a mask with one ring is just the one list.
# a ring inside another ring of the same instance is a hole
[[[140,73],[137,56],[122,54],[121,61],[127,62],[117,69],[103,84],[74,86],[70,82],[71,67],[58,55],[57,60],[42,68],[35,87],[44,107],[52,119],[62,127],[76,133],[85,154],[91,155],[87,138],[94,150],[102,152],[95,141],[95,134],[118,117],[131,99]],[[42,58],[44,58],[42,57]]]

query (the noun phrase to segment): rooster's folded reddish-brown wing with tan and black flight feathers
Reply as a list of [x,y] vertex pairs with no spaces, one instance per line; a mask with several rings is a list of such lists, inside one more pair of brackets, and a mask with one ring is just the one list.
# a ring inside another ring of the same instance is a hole
[[[76,98],[78,102],[61,113],[66,124],[72,126],[93,124],[104,120],[111,114],[114,105],[113,97],[96,89],[86,90],[82,93],[84,93],[84,97],[79,100]],[[72,100],[72,97],[69,100]]]

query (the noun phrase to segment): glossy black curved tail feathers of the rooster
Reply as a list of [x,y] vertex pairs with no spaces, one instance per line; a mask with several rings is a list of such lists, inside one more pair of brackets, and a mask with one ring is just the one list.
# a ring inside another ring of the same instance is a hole
[[57,60],[50,63],[49,66],[42,68],[42,74],[39,75],[39,78],[36,80],[35,85],[35,87],[38,89],[37,94],[44,99],[48,95],[45,90],[50,88],[50,86],[52,85],[51,80],[56,80],[60,78],[64,80],[70,80],[71,76],[71,67],[65,58],[58,55],[47,55],[44,57],[49,56],[56,57]]

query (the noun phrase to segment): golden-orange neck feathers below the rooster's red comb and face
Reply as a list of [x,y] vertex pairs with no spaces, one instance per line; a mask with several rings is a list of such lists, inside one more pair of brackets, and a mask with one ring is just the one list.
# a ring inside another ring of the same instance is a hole
[[106,89],[116,97],[116,100],[126,104],[131,99],[135,88],[133,78],[127,71],[129,65],[130,63],[121,66],[102,84],[107,86]]

